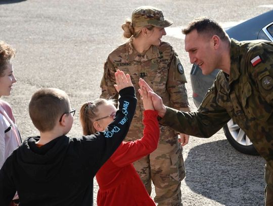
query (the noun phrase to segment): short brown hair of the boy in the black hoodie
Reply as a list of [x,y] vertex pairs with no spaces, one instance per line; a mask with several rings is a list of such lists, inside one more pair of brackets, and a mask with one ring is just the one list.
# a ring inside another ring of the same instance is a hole
[[68,95],[56,88],[45,88],[35,92],[29,102],[29,115],[33,125],[41,132],[54,129],[64,113],[70,109]]

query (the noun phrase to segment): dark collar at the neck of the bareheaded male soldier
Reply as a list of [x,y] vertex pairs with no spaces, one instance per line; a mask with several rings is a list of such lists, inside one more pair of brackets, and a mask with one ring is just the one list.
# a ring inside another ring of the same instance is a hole
[[240,76],[240,42],[238,42],[237,40],[233,38],[231,39],[230,57],[231,57],[231,69],[230,69],[229,83],[231,84]]

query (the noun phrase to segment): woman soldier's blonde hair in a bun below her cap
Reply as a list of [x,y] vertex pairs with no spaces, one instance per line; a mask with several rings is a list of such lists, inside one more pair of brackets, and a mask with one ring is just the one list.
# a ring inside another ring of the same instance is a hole
[[141,33],[141,30],[143,28],[147,28],[148,30],[152,30],[155,26],[152,25],[147,25],[147,26],[132,26],[131,20],[126,19],[125,23],[121,25],[121,28],[123,29],[123,36],[125,38],[130,38],[132,37],[138,37]]

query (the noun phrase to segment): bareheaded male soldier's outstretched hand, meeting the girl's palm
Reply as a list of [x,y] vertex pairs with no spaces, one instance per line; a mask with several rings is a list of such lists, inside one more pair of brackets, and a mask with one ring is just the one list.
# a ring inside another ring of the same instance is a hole
[[140,88],[146,88],[148,92],[148,96],[152,98],[153,105],[156,111],[158,111],[158,115],[163,117],[166,113],[166,106],[163,104],[161,97],[159,97],[156,93],[153,92],[152,88],[146,83],[145,80],[140,78],[139,81]]

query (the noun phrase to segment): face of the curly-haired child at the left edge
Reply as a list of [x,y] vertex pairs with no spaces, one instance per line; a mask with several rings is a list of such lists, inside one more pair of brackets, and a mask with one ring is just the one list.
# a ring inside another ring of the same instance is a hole
[[11,94],[12,86],[16,83],[17,79],[13,74],[13,66],[11,61],[5,66],[5,70],[0,76],[0,96],[9,96]]

